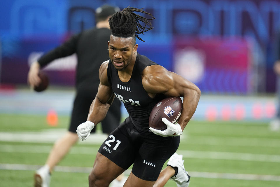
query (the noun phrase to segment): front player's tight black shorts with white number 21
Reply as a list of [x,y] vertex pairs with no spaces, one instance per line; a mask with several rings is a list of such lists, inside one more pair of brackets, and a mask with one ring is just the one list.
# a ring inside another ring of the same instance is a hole
[[114,130],[99,148],[99,153],[123,169],[132,164],[132,173],[146,181],[156,181],[168,158],[173,155],[180,137],[161,137],[137,131],[130,117]]

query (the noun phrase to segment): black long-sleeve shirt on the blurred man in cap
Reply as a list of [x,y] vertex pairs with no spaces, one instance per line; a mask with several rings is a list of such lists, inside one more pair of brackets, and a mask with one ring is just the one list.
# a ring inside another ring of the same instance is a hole
[[61,46],[44,54],[38,63],[41,67],[46,66],[52,60],[77,54],[78,63],[76,67],[77,91],[97,92],[99,85],[99,67],[109,59],[108,41],[110,30],[107,28],[94,28],[75,36]]

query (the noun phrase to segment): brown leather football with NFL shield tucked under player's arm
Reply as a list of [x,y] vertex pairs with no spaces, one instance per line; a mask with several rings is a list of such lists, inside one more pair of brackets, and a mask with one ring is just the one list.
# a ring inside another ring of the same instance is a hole
[[167,129],[162,122],[166,118],[171,123],[176,123],[181,115],[182,99],[180,97],[168,97],[158,102],[152,109],[149,117],[149,127],[158,130]]

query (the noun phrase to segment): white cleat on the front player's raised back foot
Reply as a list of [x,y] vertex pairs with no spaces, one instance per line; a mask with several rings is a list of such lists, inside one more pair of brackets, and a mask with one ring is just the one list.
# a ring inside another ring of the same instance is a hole
[[185,170],[183,155],[174,153],[174,155],[169,158],[167,165],[178,168],[177,175],[171,177],[171,180],[175,181],[178,187],[188,187],[190,184],[190,176]]

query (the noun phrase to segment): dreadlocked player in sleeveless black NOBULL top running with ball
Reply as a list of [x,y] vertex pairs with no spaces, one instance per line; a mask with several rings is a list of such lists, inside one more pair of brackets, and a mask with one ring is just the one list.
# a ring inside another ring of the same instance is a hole
[[[95,124],[106,116],[115,97],[124,103],[129,113],[129,117],[100,146],[88,177],[89,186],[106,187],[133,164],[125,187],[163,186],[165,176],[172,177],[172,172],[176,179],[183,176],[182,180],[176,180],[177,186],[187,187],[189,177],[180,166],[183,165],[182,157],[178,157],[175,151],[179,146],[182,130],[196,110],[201,92],[190,81],[137,53],[135,38],[142,40],[138,34],[143,34],[152,27],[149,19],[134,12],[153,18],[142,9],[125,8],[109,19],[110,60],[104,62],[99,69],[97,95],[90,106],[87,121],[77,128],[78,136],[85,140]],[[129,89],[122,90],[120,86]],[[183,97],[182,114],[178,123],[173,124],[162,118],[167,125],[166,130],[149,128],[151,110],[166,97]],[[169,157],[168,165],[172,167],[167,166],[160,172]]]

